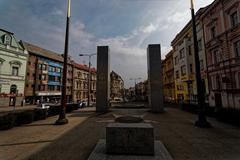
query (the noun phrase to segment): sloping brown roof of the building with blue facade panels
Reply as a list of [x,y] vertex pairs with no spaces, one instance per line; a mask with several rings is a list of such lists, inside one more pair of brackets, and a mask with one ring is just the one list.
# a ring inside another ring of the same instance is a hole
[[35,55],[41,56],[41,57],[46,57],[46,58],[56,60],[56,61],[59,61],[59,62],[63,62],[63,57],[56,52],[38,47],[36,45],[30,44],[30,43],[27,43],[27,42],[24,42],[24,41],[21,41],[21,43],[23,44],[24,48],[29,53],[32,53],[32,54],[35,54]]

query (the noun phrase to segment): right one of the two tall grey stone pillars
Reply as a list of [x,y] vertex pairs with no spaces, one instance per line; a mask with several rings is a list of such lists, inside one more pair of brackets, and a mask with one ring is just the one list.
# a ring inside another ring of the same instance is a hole
[[160,44],[152,44],[147,49],[149,105],[155,113],[163,112],[163,80]]

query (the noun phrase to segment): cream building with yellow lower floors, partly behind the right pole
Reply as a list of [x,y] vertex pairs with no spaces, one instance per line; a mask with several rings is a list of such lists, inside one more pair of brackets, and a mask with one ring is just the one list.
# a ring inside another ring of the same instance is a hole
[[[208,102],[208,77],[204,48],[203,27],[200,16],[206,8],[201,8],[196,13],[196,26],[198,38],[199,61],[201,80],[204,86],[205,101]],[[192,36],[192,21],[177,34],[172,41],[174,61],[175,97],[178,102],[197,103],[197,87],[195,75],[195,58]]]

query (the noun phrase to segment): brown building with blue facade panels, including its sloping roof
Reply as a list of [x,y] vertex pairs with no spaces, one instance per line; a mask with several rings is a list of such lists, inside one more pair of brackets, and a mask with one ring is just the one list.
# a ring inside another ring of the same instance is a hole
[[[26,103],[60,103],[63,57],[33,44],[21,43],[29,53],[25,85]],[[67,102],[72,101],[72,66],[69,59],[67,67]]]

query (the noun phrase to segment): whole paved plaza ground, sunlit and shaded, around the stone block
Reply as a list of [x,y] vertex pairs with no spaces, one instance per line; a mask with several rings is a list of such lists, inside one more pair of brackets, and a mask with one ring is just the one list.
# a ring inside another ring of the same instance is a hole
[[[166,107],[153,114],[147,109],[111,109],[97,114],[94,108],[68,114],[69,124],[54,126],[57,117],[0,132],[0,159],[87,160],[113,114],[145,115],[174,160],[239,160],[240,129],[209,118],[211,129],[194,127],[196,115]],[[31,156],[31,158],[28,158]]]

